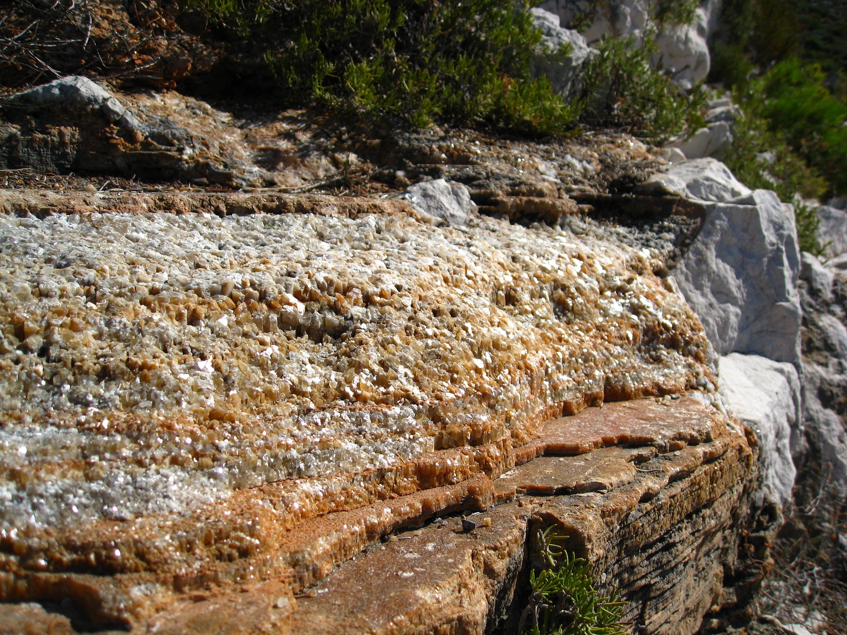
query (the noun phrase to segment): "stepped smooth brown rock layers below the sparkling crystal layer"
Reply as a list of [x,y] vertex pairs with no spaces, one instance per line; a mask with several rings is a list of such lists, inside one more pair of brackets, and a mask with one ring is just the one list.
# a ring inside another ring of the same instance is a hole
[[[620,431],[628,428],[639,433],[622,439]],[[573,442],[563,446],[567,429],[573,429]],[[289,554],[297,545],[302,569],[314,566],[321,550],[316,546],[326,551],[335,534],[343,537],[333,544],[335,561],[355,557],[334,572],[329,566],[319,576],[327,577],[306,593],[293,599],[285,585],[268,581],[235,594],[184,594],[147,628],[510,632],[525,601],[527,572],[540,566],[534,537],[554,526],[568,536],[568,549],[594,562],[601,588],[623,590],[625,618],[637,632],[696,632],[709,611],[744,605],[749,578],[756,581],[756,566],[745,554],[749,558],[753,549],[761,555],[756,544],[761,538],[748,534],[740,545],[742,534],[732,530],[747,526],[753,516],[756,448],[735,430],[715,409],[690,397],[609,403],[562,417],[536,439],[544,456],[493,483],[472,479],[489,498],[468,516],[475,525],[471,531],[457,516],[446,516],[455,507],[435,501],[435,493],[428,494],[432,506],[424,514],[420,494],[330,514],[293,532]],[[604,445],[622,441],[628,444]],[[590,447],[597,449],[572,454]],[[389,505],[413,510],[398,523],[407,529],[388,533],[382,544],[373,541],[379,533],[369,545],[357,540],[357,519],[367,523],[369,516],[373,523]],[[436,515],[446,517],[425,522]],[[89,582],[85,590],[93,593],[93,586]],[[66,616],[37,605],[7,605],[3,619],[30,627],[69,626]]]

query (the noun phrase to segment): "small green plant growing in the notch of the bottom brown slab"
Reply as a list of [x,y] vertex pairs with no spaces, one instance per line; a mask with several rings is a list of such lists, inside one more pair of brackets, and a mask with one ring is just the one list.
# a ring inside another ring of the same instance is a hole
[[519,632],[526,635],[628,635],[621,623],[624,602],[617,592],[601,597],[594,588],[590,563],[568,553],[548,527],[538,539],[546,566],[529,574],[532,595]]

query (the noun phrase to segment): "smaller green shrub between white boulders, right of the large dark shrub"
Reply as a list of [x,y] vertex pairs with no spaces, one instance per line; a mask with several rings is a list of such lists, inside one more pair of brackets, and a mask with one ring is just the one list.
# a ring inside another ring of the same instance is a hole
[[584,69],[579,97],[585,104],[581,118],[587,124],[626,130],[633,135],[666,141],[681,132],[702,127],[705,93],[697,86],[690,94],[654,69],[652,34],[645,43],[632,37],[606,38]]

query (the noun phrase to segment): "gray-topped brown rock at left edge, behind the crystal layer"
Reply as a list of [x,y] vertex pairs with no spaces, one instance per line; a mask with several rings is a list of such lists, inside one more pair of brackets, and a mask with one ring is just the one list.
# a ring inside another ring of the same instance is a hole
[[[261,185],[263,171],[166,117],[140,121],[96,82],[72,75],[0,101],[0,168]],[[216,150],[210,150],[215,147]]]

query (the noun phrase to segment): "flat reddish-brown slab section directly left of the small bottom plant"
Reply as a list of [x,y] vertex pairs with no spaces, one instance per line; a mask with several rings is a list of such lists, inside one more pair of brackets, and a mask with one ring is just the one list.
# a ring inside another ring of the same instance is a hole
[[532,510],[507,503],[471,533],[451,518],[375,546],[297,600],[292,631],[484,632],[511,599]]

